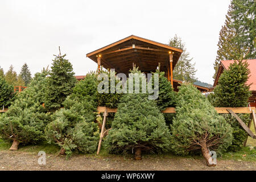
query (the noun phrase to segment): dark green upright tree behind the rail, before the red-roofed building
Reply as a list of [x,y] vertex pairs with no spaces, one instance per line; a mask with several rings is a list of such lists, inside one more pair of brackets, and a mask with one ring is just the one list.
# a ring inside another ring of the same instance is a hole
[[[218,85],[213,90],[214,95],[209,97],[212,104],[216,107],[245,107],[250,97],[250,85],[246,85],[250,70],[246,61],[234,61],[229,65],[218,79]],[[232,145],[228,148],[230,151],[241,150],[247,133],[240,124],[230,114],[222,114],[226,121],[233,127]],[[243,122],[248,123],[250,116],[248,114],[238,114]]]

